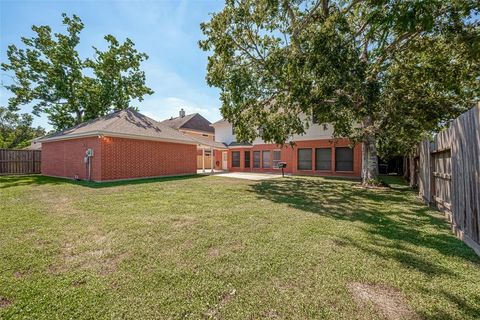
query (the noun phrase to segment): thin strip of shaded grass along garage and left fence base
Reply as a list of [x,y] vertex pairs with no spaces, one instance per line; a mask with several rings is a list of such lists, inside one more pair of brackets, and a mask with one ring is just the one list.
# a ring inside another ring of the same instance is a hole
[[189,179],[197,179],[197,178],[203,178],[203,177],[205,176],[192,174],[192,175],[184,175],[184,176],[141,178],[141,179],[134,179],[134,180],[89,182],[84,180],[71,180],[71,179],[64,179],[64,178],[46,177],[42,175],[0,176],[0,189],[11,188],[11,187],[21,187],[21,186],[32,186],[32,185],[40,186],[40,185],[65,185],[65,184],[100,189],[100,188],[110,188],[110,187],[118,187],[118,186],[126,186],[126,185],[189,180]]

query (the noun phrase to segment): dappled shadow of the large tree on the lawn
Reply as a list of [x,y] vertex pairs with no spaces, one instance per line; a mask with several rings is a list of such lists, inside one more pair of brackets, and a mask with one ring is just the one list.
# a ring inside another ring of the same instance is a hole
[[[389,179],[390,183],[399,186],[395,189],[367,190],[342,180],[286,178],[254,184],[252,191],[260,199],[287,204],[305,212],[343,221],[360,221],[364,224],[356,225],[356,228],[371,237],[366,242],[344,237],[349,245],[395,259],[429,276],[450,274],[451,271],[427,261],[418,251],[407,250],[402,244],[480,263],[480,257],[472,249],[449,233],[448,223],[440,216],[434,216],[431,209],[420,201],[415,203],[411,191],[403,189],[401,179],[396,179],[398,181]],[[432,227],[438,232],[432,232]]]

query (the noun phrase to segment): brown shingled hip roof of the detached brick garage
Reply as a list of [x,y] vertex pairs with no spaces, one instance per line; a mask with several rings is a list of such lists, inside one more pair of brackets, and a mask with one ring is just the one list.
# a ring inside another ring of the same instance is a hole
[[197,144],[191,137],[132,109],[117,111],[81,123],[72,128],[44,136],[37,141],[65,140],[93,135]]

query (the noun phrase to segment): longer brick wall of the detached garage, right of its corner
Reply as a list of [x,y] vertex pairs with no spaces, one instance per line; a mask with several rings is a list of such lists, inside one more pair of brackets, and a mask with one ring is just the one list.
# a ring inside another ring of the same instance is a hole
[[102,180],[195,174],[197,147],[103,137],[102,169]]

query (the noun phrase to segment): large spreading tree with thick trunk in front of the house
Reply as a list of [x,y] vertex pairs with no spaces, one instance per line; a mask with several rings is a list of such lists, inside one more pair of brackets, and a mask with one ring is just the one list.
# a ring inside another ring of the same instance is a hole
[[478,97],[479,28],[468,19],[477,6],[228,0],[201,25],[200,47],[211,52],[207,81],[221,89],[221,112],[239,139],[253,140],[261,126],[264,140],[283,144],[314,116],[336,136],[362,142],[368,183],[377,176],[377,147],[411,149]]

